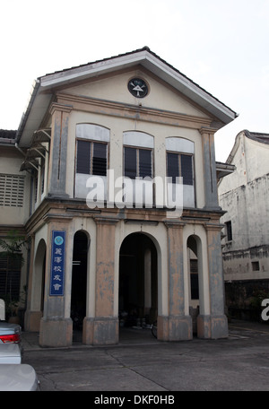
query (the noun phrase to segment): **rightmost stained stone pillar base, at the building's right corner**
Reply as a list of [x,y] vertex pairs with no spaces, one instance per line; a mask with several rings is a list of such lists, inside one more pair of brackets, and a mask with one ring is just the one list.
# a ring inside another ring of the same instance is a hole
[[228,338],[228,320],[225,315],[197,317],[197,336],[204,339]]

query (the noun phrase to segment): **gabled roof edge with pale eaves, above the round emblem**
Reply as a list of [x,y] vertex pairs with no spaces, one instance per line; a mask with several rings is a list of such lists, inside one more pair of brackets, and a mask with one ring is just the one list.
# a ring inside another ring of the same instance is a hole
[[17,141],[23,139],[23,144],[27,144],[32,133],[39,128],[40,122],[48,109],[53,90],[56,87],[91,79],[101,74],[115,73],[125,68],[131,68],[134,65],[142,65],[152,74],[169,83],[188,99],[206,109],[213,117],[218,118],[223,125],[229,124],[238,116],[235,111],[217,100],[212,94],[154,54],[150,48],[143,47],[116,57],[74,66],[39,77],[33,85],[29,105],[22,116]]

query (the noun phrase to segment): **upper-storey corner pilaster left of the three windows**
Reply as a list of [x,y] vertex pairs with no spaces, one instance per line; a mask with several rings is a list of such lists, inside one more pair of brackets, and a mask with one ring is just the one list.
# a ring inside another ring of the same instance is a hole
[[68,120],[72,107],[54,102],[50,107],[52,116],[51,144],[48,166],[48,196],[68,197],[65,192]]

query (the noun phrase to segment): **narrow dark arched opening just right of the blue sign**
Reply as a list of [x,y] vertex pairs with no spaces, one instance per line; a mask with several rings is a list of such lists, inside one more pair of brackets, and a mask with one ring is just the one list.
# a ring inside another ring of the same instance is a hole
[[84,231],[74,234],[71,318],[74,335],[82,336],[83,318],[86,316],[86,288],[89,239]]

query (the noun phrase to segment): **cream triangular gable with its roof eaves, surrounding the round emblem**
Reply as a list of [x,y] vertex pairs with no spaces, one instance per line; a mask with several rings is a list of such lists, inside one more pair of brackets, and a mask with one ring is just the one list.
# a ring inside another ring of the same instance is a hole
[[[148,95],[138,103],[126,88],[133,74],[143,75],[150,86]],[[236,112],[145,47],[39,77],[18,129],[17,142],[21,146],[30,144],[57,91],[133,106],[140,103],[156,111],[210,117],[214,118],[216,128],[237,117]]]

